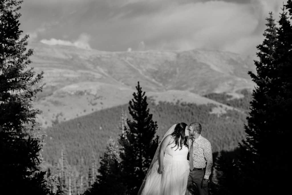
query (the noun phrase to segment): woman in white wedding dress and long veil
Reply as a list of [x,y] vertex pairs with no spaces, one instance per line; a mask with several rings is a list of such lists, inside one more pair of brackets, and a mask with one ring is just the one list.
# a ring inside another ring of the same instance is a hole
[[184,195],[190,165],[186,123],[173,125],[160,142],[138,195]]

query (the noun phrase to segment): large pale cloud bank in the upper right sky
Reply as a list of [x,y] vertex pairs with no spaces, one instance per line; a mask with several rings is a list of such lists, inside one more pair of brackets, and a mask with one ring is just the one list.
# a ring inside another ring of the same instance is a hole
[[144,39],[152,49],[208,48],[253,55],[256,45],[263,40],[268,12],[279,13],[280,7],[274,0],[269,3],[254,0],[250,4],[206,1],[169,6],[159,13],[133,18],[131,25],[136,24],[137,29],[131,38]]

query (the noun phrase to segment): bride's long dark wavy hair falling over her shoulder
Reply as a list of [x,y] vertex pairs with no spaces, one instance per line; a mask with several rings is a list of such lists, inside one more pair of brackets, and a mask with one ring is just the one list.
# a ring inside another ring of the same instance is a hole
[[[178,146],[178,148],[180,147],[180,150],[183,148],[183,144],[188,147],[187,145],[187,139],[185,138],[185,128],[187,127],[186,123],[178,123],[176,124],[173,133],[171,133],[171,135],[174,138],[175,141],[175,146]],[[172,148],[174,148],[172,147]],[[178,149],[177,148],[177,149]],[[177,150],[175,149],[175,150]]]

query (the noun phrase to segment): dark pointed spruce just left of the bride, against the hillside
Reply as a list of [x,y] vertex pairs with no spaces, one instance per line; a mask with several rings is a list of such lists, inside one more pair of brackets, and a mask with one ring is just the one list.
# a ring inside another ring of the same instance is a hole
[[147,108],[147,96],[142,91],[140,83],[137,92],[129,102],[129,113],[133,121],[127,119],[128,127],[125,134],[120,136],[122,146],[121,164],[124,173],[124,184],[129,194],[137,194],[150,166],[158,146],[158,136],[155,137],[157,123],[152,120],[152,114]]

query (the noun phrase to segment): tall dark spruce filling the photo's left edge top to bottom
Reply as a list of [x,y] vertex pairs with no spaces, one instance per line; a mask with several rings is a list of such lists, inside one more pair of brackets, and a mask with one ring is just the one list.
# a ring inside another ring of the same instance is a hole
[[47,194],[41,162],[41,138],[32,99],[42,78],[28,69],[27,38],[20,38],[18,0],[0,1],[0,189],[1,194]]

